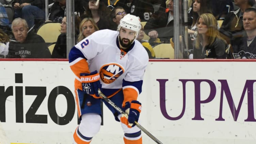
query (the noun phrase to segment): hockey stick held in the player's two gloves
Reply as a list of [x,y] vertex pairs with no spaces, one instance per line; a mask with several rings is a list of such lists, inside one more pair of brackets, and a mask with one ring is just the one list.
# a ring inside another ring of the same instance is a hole
[[[110,99],[108,99],[103,93],[101,93],[100,89],[98,89],[98,94],[100,95],[101,98],[103,98],[104,100],[106,100],[113,108],[115,108],[118,112],[122,113],[122,114],[126,114],[121,108],[117,107],[115,105],[115,103],[113,101],[111,101]],[[156,137],[154,137],[150,132],[148,132],[144,127],[142,127],[138,122],[134,122],[135,125],[141,129],[144,133],[146,133],[148,135],[148,137],[150,137],[152,140],[154,140],[156,143],[158,144],[163,144],[162,142],[160,142]]]

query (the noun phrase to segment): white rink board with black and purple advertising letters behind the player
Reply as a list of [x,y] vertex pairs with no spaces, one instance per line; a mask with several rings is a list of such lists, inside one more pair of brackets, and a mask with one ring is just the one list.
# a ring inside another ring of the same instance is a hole
[[[7,97],[0,101],[0,120],[9,141],[72,143],[78,119],[68,61],[0,65],[0,97]],[[140,124],[164,144],[255,143],[255,67],[255,61],[150,61],[139,96]],[[91,142],[100,143],[123,143],[120,124],[105,106],[103,126]],[[155,144],[144,133],[143,143]]]

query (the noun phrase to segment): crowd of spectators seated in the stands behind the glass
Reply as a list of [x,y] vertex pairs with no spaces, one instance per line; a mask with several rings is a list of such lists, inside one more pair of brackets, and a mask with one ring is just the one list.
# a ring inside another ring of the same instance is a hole
[[[157,59],[155,46],[165,43],[174,48],[174,1],[74,0],[75,42],[98,30],[116,31],[119,21],[132,14],[144,22],[137,40],[150,59]],[[67,58],[66,0],[49,0],[49,4],[46,17],[45,0],[0,0],[0,58]],[[6,6],[13,9],[13,20]],[[52,52],[36,34],[46,23],[61,23]],[[189,0],[186,24],[185,59],[256,58],[255,0]]]

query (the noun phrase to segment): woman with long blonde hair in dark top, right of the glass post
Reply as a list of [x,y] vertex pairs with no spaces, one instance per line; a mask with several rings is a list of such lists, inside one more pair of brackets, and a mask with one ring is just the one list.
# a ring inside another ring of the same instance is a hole
[[204,13],[197,20],[197,36],[194,42],[193,59],[226,59],[226,42],[219,35],[218,23],[212,14]]

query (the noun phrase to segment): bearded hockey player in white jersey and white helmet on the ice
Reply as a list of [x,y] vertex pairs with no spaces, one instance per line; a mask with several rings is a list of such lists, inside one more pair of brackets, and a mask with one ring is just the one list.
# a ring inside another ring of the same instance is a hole
[[103,100],[121,121],[125,144],[142,144],[139,120],[148,54],[136,40],[141,28],[139,17],[127,14],[117,31],[100,30],[75,45],[69,53],[70,68],[76,75],[75,93],[80,125],[74,132],[74,144],[89,144],[101,124],[101,98],[98,89],[128,115],[122,115]]

